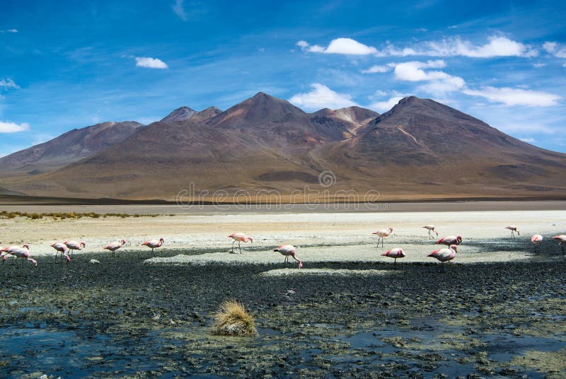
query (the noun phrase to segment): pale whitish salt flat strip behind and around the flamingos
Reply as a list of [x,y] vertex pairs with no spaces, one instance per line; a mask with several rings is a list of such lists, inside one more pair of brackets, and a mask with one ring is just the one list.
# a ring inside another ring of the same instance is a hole
[[[504,204],[492,202],[495,209]],[[473,205],[473,204],[471,204]],[[551,235],[566,231],[566,213],[562,210],[537,210],[536,203],[525,204],[516,210],[480,211],[466,204],[467,211],[301,211],[296,213],[179,213],[175,216],[156,215],[141,217],[78,218],[54,221],[50,218],[30,220],[14,218],[0,220],[0,241],[3,245],[28,242],[32,255],[52,253],[50,245],[61,240],[84,240],[86,251],[102,252],[102,247],[114,240],[125,238],[128,243],[121,254],[146,250],[141,242],[148,238],[164,238],[161,251],[169,256],[175,252],[190,254],[176,258],[179,262],[279,262],[283,257],[273,248],[293,244],[297,255],[308,262],[393,262],[379,254],[393,247],[401,247],[407,257],[403,262],[430,262],[425,257],[437,245],[428,239],[422,226],[433,223],[439,235],[462,235],[456,262],[488,262],[532,258],[529,238],[541,233]],[[545,208],[548,202],[541,202]],[[562,209],[562,202],[555,204]],[[133,206],[135,208],[135,206]],[[42,211],[46,210],[42,206]],[[512,240],[504,227],[516,225],[521,231],[519,239]],[[391,226],[393,234],[385,246],[377,248],[371,232]],[[253,236],[253,244],[242,244],[243,254],[229,254],[230,233],[243,232]],[[555,244],[547,241],[544,248]],[[203,254],[204,253],[204,254]],[[156,255],[159,255],[156,250]],[[195,255],[198,254],[198,255]],[[154,260],[151,262],[170,262]]]

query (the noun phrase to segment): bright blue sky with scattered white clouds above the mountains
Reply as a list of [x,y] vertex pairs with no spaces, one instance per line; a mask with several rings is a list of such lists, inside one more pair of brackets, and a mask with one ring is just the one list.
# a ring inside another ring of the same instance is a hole
[[258,91],[306,111],[432,98],[566,152],[563,1],[0,0],[0,155]]

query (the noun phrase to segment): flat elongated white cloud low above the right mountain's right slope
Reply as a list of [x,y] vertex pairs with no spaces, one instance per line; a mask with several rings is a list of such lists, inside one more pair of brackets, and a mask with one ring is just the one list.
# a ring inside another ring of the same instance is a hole
[[556,105],[560,96],[542,91],[530,91],[519,88],[482,87],[480,90],[466,88],[463,93],[470,96],[480,96],[494,103],[504,105],[526,105],[530,107],[550,107]]

